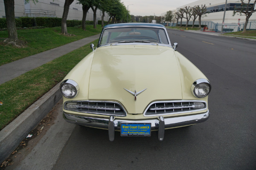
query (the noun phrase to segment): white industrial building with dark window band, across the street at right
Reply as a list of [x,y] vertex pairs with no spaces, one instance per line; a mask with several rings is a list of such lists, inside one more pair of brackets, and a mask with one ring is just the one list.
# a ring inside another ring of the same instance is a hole
[[[172,10],[174,13],[179,10],[180,8],[184,8],[186,6],[194,7],[194,6],[201,6],[206,5],[207,7],[207,14],[203,15],[201,18],[201,24],[207,25],[208,28],[212,28],[214,31],[220,31],[222,26],[222,20],[224,15],[225,9],[225,2],[226,0],[197,0],[193,3],[188,3],[183,6],[177,7],[175,10]],[[244,0],[247,3],[247,0]],[[254,2],[254,1],[253,1]],[[226,7],[226,14],[224,20],[224,28],[227,29],[228,32],[230,31],[241,31],[243,29],[245,23],[245,16],[235,15],[233,16],[234,6],[240,6],[240,0],[227,0],[227,7]],[[255,9],[256,7],[254,7]],[[162,16],[165,13],[161,14]],[[240,20],[239,20],[240,19]],[[189,25],[192,25],[192,18],[189,20]],[[172,20],[172,23],[167,23],[169,26],[176,26],[177,20]],[[182,24],[186,24],[186,19],[183,18]],[[195,24],[198,25],[198,17],[195,20]],[[180,19],[178,22],[180,25]],[[256,29],[256,12],[252,14],[249,19],[249,23],[247,25],[247,29]]]

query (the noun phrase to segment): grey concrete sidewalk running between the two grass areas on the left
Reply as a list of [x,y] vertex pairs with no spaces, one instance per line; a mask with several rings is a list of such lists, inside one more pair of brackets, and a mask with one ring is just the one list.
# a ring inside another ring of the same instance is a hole
[[0,66],[0,84],[3,84],[21,74],[26,73],[34,68],[37,68],[55,58],[61,57],[77,48],[80,48],[99,38],[99,34],[87,37],[69,44],[53,48],[48,51],[41,52],[14,62],[10,62]]

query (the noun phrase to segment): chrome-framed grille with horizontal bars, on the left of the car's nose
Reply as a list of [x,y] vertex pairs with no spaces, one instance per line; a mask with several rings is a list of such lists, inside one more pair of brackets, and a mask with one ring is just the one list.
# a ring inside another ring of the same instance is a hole
[[109,116],[126,116],[125,109],[118,102],[109,101],[68,101],[64,109],[83,113],[102,114]]

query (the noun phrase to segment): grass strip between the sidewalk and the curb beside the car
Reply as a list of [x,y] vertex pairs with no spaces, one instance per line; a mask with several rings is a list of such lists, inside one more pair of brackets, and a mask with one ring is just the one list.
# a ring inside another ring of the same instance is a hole
[[[97,42],[91,43],[96,45]],[[0,105],[0,130],[64,79],[92,51],[89,44],[1,84],[0,102],[3,105]]]

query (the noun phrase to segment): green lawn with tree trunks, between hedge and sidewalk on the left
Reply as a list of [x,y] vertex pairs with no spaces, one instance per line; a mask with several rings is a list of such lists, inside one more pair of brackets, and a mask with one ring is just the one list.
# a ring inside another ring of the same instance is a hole
[[79,27],[68,27],[68,33],[76,35],[70,37],[60,34],[61,27],[17,30],[18,38],[27,42],[25,48],[4,44],[3,40],[8,37],[8,32],[0,31],[0,65],[99,34],[102,27],[97,25],[97,29],[94,29],[92,25],[87,25],[86,29],[87,31],[83,31]]

